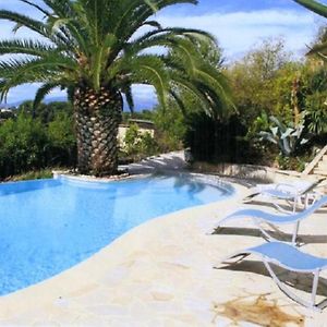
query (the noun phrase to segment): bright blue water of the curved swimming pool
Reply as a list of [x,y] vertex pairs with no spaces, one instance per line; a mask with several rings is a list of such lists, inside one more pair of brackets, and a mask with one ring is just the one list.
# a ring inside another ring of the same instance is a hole
[[190,175],[0,185],[0,295],[84,261],[152,218],[232,194]]

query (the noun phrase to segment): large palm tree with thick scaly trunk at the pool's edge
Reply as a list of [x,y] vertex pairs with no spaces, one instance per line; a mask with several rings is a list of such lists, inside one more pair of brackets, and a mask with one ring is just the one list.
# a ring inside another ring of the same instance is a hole
[[[170,95],[182,106],[181,88],[214,111],[229,105],[223,75],[203,56],[205,45],[216,47],[214,37],[192,28],[162,28],[152,19],[168,5],[196,0],[21,1],[44,19],[7,10],[0,10],[0,19],[16,23],[14,31],[27,27],[41,37],[0,41],[0,55],[11,55],[0,61],[0,100],[24,83],[41,83],[35,107],[51,89],[66,89],[81,173],[116,173],[123,96],[133,110],[133,84],[153,85],[164,105]],[[148,51],[155,47],[164,50]]]

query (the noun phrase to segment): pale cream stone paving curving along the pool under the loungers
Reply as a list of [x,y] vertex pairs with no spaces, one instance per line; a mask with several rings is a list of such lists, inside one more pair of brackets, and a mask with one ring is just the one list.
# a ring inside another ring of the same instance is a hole
[[[220,264],[264,242],[249,220],[211,233],[244,206],[247,190],[235,189],[231,198],[148,221],[70,270],[1,296],[0,326],[326,326],[327,308],[313,313],[291,301],[255,257]],[[324,257],[326,214],[300,229],[302,250]],[[279,272],[310,298],[310,276]],[[327,298],[327,274],[322,277],[318,300]]]

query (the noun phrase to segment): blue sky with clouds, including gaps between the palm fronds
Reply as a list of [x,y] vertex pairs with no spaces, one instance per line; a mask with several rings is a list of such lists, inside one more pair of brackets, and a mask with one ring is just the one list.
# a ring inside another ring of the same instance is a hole
[[[324,1],[326,3],[326,1]],[[19,0],[0,0],[0,8],[24,12],[27,7]],[[156,14],[164,26],[183,26],[205,29],[214,34],[223,49],[227,61],[241,58],[263,39],[282,37],[288,50],[301,57],[323,24],[319,16],[300,7],[292,0],[199,0],[198,5],[178,4]],[[0,38],[11,37],[11,25],[0,22]],[[31,36],[20,32],[20,36]],[[8,102],[33,97],[35,86],[14,88]],[[153,97],[148,87],[135,87],[136,100]],[[61,96],[55,90],[50,97]]]

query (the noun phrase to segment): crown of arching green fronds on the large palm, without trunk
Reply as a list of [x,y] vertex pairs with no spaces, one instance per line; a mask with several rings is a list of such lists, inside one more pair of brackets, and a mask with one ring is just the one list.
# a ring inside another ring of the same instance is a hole
[[[22,83],[40,82],[37,105],[51,87],[65,87],[73,97],[82,84],[95,89],[112,87],[133,108],[131,87],[141,83],[154,85],[164,106],[168,94],[182,106],[181,92],[197,97],[208,114],[231,106],[216,39],[195,28],[162,28],[152,20],[166,7],[196,4],[196,0],[21,1],[44,19],[0,10],[0,20],[16,23],[15,28],[27,27],[47,40],[0,41],[0,55],[27,55],[0,61],[1,97]],[[150,31],[137,36],[142,26]],[[144,55],[153,47],[165,48],[165,55]]]

